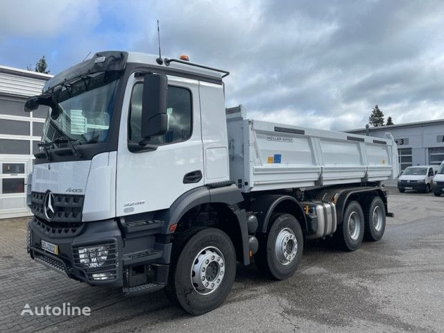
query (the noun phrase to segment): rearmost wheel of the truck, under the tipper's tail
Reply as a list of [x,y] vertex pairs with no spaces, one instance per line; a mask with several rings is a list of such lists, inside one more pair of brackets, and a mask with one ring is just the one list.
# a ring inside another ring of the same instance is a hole
[[364,238],[367,241],[379,241],[386,229],[386,209],[379,196],[368,203],[364,213]]

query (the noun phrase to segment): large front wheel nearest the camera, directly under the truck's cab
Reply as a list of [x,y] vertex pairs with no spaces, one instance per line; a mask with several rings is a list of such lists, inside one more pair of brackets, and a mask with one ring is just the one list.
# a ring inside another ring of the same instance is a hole
[[227,298],[236,265],[236,252],[225,232],[216,228],[187,230],[173,244],[165,293],[189,314],[205,314]]

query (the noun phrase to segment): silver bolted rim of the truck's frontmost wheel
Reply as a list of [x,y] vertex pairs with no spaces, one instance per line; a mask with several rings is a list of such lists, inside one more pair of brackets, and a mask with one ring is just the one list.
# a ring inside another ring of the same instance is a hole
[[219,248],[200,250],[191,264],[191,284],[195,291],[207,295],[219,288],[225,275],[225,259]]

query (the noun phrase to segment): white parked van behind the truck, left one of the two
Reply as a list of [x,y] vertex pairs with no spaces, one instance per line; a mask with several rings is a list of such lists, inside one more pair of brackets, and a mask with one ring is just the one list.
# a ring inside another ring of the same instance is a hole
[[418,165],[416,167],[408,167],[398,178],[398,189],[404,193],[406,189],[416,189],[424,193],[429,193],[433,186],[433,178],[438,170],[432,165]]

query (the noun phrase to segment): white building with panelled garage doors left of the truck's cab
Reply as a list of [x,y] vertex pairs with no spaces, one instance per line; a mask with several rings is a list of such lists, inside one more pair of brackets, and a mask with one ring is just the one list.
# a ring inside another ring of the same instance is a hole
[[51,75],[0,66],[0,219],[26,216],[26,178],[42,136],[47,107],[24,112]]

